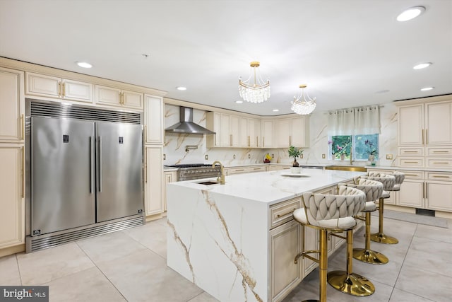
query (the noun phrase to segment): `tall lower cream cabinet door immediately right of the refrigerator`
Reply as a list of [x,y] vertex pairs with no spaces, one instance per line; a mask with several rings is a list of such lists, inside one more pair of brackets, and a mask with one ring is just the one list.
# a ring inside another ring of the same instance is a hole
[[163,204],[162,147],[145,148],[145,208],[146,215],[160,214]]

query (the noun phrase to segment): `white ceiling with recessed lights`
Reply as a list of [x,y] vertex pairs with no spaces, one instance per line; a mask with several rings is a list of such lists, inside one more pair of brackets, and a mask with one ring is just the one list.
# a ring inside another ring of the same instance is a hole
[[[258,115],[290,113],[301,83],[316,110],[374,105],[452,93],[452,1],[0,0],[0,56]],[[272,95],[236,104],[251,61]]]

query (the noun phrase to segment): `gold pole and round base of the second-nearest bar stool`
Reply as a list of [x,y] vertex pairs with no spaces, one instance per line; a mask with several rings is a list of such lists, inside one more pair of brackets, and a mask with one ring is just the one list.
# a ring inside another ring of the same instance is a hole
[[352,268],[353,230],[347,231],[347,271],[328,273],[328,283],[338,291],[353,296],[370,296],[375,286],[366,277],[355,274]]

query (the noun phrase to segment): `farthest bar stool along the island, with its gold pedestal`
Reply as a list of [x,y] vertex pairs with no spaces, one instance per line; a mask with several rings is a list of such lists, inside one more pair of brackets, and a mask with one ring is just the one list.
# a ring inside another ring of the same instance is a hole
[[396,238],[387,236],[383,233],[384,199],[390,197],[388,191],[393,190],[394,185],[396,185],[396,177],[393,175],[388,175],[388,174],[369,172],[368,176],[361,176],[361,178],[365,178],[365,179],[369,179],[369,180],[376,180],[383,184],[383,194],[381,194],[381,197],[379,199],[379,231],[378,231],[378,233],[371,234],[370,240],[372,240],[374,242],[386,243],[386,244],[398,243],[398,240]]

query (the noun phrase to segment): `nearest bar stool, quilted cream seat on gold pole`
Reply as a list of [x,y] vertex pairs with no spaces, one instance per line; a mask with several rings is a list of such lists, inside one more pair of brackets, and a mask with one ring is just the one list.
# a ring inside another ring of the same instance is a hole
[[[307,257],[319,263],[319,301],[326,302],[326,269],[328,267],[328,232],[348,231],[356,226],[353,218],[364,208],[366,194],[352,187],[340,186],[338,195],[305,192],[302,195],[303,207],[293,212],[294,219],[302,226],[319,230],[319,250],[304,250],[295,256]],[[319,254],[319,260],[312,257]],[[315,300],[306,300],[311,302]]]

